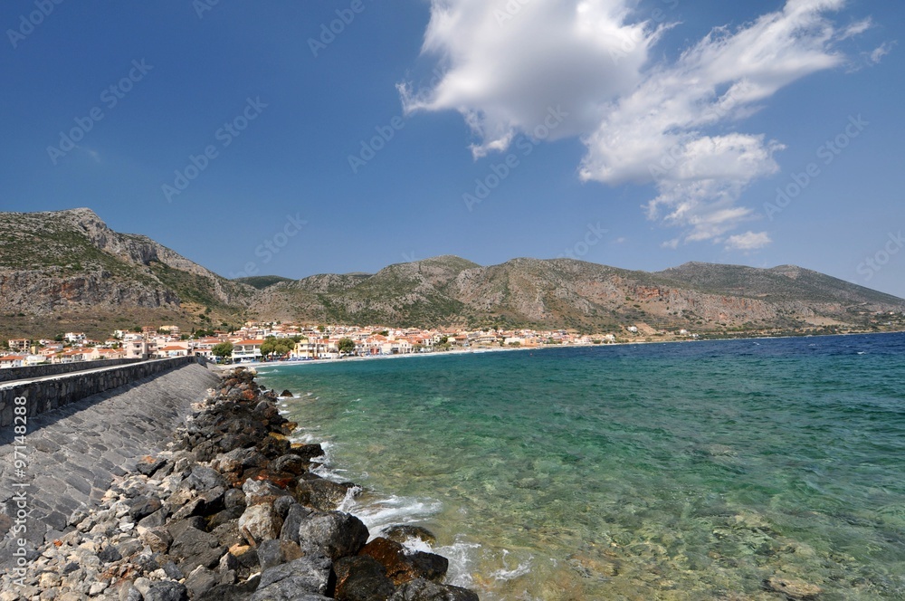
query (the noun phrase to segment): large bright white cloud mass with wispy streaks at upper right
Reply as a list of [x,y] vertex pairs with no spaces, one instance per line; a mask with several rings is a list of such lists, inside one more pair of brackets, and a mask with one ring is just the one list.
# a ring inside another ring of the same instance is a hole
[[760,234],[727,238],[754,218],[739,197],[776,173],[785,147],[740,131],[740,121],[790,83],[843,64],[838,43],[872,24],[834,24],[845,0],[788,0],[737,29],[713,29],[672,62],[655,61],[677,4],[663,0],[645,16],[634,0],[432,0],[423,52],[444,74],[426,89],[399,84],[405,110],[459,111],[477,158],[531,135],[562,107],[569,117],[550,138],[583,141],[583,180],[653,184],[648,217],[681,230],[667,245],[742,249]]

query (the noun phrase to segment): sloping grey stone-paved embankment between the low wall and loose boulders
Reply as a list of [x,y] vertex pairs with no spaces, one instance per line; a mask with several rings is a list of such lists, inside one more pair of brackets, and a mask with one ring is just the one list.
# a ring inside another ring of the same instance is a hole
[[[13,426],[0,432],[0,569],[12,564],[22,537],[13,536],[18,491],[27,493],[27,547],[34,549],[56,538],[72,511],[95,506],[114,475],[162,450],[216,381],[214,372],[193,364],[30,417],[24,479],[14,467]],[[18,482],[30,486],[19,489]]]

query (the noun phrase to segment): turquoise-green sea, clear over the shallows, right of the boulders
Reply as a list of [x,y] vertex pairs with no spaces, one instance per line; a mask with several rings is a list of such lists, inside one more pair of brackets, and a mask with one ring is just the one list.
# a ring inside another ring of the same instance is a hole
[[347,509],[482,599],[905,598],[905,335],[260,371]]

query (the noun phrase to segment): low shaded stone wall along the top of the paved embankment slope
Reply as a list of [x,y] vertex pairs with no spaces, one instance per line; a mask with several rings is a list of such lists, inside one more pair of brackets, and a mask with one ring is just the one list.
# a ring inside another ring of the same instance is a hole
[[[28,416],[43,414],[62,405],[79,401],[86,396],[125,386],[174,367],[197,362],[194,357],[178,357],[143,361],[110,367],[90,373],[61,374],[57,377],[23,384],[0,385],[0,427],[14,424],[16,397],[24,397]],[[21,421],[20,421],[21,423]]]

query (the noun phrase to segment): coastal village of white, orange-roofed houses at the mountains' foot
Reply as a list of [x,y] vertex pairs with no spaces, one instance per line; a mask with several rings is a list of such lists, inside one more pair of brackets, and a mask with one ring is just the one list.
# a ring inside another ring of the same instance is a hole
[[[417,353],[474,351],[499,348],[590,346],[643,341],[656,335],[642,325],[625,328],[626,339],[614,334],[579,335],[567,330],[387,329],[357,326],[306,326],[281,322],[248,322],[233,331],[186,333],[176,326],[146,326],[140,331],[116,330],[109,339],[88,339],[66,332],[54,339],[10,339],[0,355],[0,368],[100,359],[203,357],[225,363],[262,360],[368,358]],[[696,339],[685,329],[678,336]],[[228,352],[227,352],[228,351]]]

